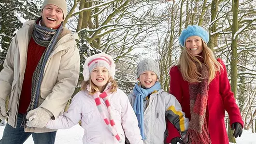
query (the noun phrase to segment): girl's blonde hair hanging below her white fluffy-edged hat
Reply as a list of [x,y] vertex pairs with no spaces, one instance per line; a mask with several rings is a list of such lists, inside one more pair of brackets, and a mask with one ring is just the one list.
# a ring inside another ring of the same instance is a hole
[[[108,78],[108,83],[111,83],[111,86],[110,86],[110,93],[114,93],[116,92],[117,90],[117,83],[116,81],[113,79],[112,76],[109,76]],[[83,81],[82,82],[82,90],[87,90],[87,85],[90,85],[90,89],[89,89],[89,94],[90,95],[94,95],[96,92],[100,92],[99,88],[97,87],[97,85],[93,84],[92,80],[91,80],[91,77],[89,77],[89,80],[88,81]],[[107,84],[104,85],[104,88],[106,88]]]

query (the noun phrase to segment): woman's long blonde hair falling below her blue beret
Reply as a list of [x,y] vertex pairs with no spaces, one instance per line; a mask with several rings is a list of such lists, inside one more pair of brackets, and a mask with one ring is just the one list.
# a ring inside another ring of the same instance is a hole
[[220,72],[221,68],[223,69],[222,65],[215,59],[213,51],[207,47],[207,44],[205,44],[203,40],[202,45],[203,49],[201,52],[201,56],[193,55],[192,53],[188,52],[187,48],[185,48],[181,53],[178,65],[180,66],[183,79],[189,83],[200,83],[203,79],[196,65],[196,62],[198,62],[200,67],[202,66],[201,62],[198,60],[197,57],[202,57],[204,60],[203,63],[206,64],[206,66],[208,67],[208,84],[214,79],[216,72]]

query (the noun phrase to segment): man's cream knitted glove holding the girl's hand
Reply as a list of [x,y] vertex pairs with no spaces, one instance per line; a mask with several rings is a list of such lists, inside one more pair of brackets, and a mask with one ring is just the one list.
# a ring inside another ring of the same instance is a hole
[[53,114],[48,109],[38,107],[28,112],[26,125],[28,127],[43,128],[51,120],[52,116]]

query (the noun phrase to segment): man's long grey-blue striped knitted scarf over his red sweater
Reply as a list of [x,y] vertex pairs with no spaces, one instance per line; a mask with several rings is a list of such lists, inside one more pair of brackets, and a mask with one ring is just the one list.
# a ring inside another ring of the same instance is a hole
[[[40,17],[42,19],[42,17]],[[39,45],[45,45],[47,48],[45,49],[43,56],[41,57],[40,61],[37,64],[37,67],[35,69],[35,72],[33,73],[32,78],[32,90],[31,90],[31,101],[28,106],[28,111],[35,109],[38,107],[39,102],[39,96],[40,96],[40,87],[43,79],[43,72],[45,68],[45,64],[50,56],[50,54],[53,51],[53,48],[55,44],[57,43],[57,37],[59,36],[61,30],[62,30],[63,23],[59,26],[57,30],[50,29],[44,26],[40,26],[35,23],[35,29],[34,31],[37,31],[37,34],[32,34],[33,38],[35,39],[35,42]],[[38,33],[40,32],[40,33]],[[51,36],[52,35],[52,36]],[[48,37],[51,37],[51,40],[48,41]],[[45,40],[47,39],[47,40]]]

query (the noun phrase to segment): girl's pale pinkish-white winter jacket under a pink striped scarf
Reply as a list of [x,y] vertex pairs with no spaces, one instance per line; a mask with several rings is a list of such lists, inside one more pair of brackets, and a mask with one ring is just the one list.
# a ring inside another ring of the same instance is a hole
[[[103,99],[100,99],[103,111],[108,115],[108,110]],[[120,89],[109,96],[109,101],[114,115],[117,133],[125,144],[125,135],[131,144],[143,144],[138,120],[129,103],[128,96]],[[51,120],[46,127],[50,129],[68,129],[82,120],[85,129],[83,144],[120,144],[109,131],[106,123],[100,116],[94,98],[86,91],[80,91],[73,98],[70,108],[63,116]]]

